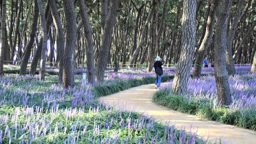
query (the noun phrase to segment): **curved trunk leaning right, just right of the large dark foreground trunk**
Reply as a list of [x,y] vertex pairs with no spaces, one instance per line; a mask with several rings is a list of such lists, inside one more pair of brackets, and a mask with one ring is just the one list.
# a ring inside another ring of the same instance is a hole
[[232,20],[232,26],[228,33],[226,63],[229,76],[233,76],[234,74],[236,74],[234,59],[232,58],[232,43],[236,35],[237,24],[242,16],[241,12],[244,10],[245,4],[245,0],[240,0],[239,3],[237,4],[236,14],[234,15],[234,19]]

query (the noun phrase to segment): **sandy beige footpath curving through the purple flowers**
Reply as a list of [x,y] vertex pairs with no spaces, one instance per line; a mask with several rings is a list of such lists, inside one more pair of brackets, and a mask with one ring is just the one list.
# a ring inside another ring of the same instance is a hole
[[100,97],[99,100],[116,109],[125,109],[130,111],[147,112],[152,115],[157,121],[170,122],[175,124],[175,127],[180,129],[185,127],[189,131],[192,124],[192,129],[197,131],[197,134],[205,138],[209,136],[209,141],[215,142],[222,140],[222,143],[234,144],[256,144],[256,132],[248,129],[238,128],[232,125],[220,124],[210,120],[202,120],[194,115],[186,115],[170,109],[157,106],[152,102],[152,93],[156,92],[154,84],[147,84],[131,88],[122,92],[115,93],[106,97]]

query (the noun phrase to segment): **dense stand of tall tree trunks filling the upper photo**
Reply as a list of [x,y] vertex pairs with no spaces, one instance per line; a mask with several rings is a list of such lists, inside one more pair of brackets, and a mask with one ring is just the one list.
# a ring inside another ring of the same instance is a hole
[[177,73],[186,70],[182,77],[187,80],[175,79],[173,85],[173,92],[186,93],[182,84],[188,81],[188,68],[193,63],[193,76],[200,77],[205,56],[214,58],[220,86],[235,74],[235,63],[253,64],[252,73],[256,71],[255,0],[3,0],[0,4],[1,76],[4,63],[20,65],[20,76],[26,75],[29,65],[29,74],[35,76],[40,67],[44,80],[49,63],[59,68],[58,83],[68,87],[74,85],[74,68],[85,66],[88,82],[94,84],[104,80],[107,64],[146,63],[151,72],[154,58],[160,56],[165,64],[175,63]]

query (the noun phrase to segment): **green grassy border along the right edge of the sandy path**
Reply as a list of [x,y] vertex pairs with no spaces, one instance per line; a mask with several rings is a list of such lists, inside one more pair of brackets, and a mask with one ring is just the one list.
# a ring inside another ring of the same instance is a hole
[[170,90],[157,91],[152,99],[156,104],[175,111],[256,131],[256,113],[252,110],[235,109],[230,111],[227,107],[222,106],[214,108],[210,102],[204,102],[204,100],[195,102],[194,100],[189,100],[188,97],[172,95]]

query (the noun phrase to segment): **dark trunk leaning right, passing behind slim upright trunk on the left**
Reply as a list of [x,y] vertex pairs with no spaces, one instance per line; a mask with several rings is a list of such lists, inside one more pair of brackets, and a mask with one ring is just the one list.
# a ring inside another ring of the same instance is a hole
[[[46,29],[47,29],[47,35],[48,35],[50,26],[52,24],[52,16],[51,16],[51,13],[49,12],[48,6],[45,10],[45,19],[47,19],[46,20]],[[41,54],[42,54],[42,44],[43,44],[43,37],[41,36],[40,40],[39,40],[39,43],[37,45],[37,49],[36,49],[35,54],[33,56],[33,60],[31,62],[30,70],[29,70],[29,74],[31,76],[35,76],[35,74],[36,74],[36,67],[38,65],[38,61],[39,61],[39,59],[41,57]]]

